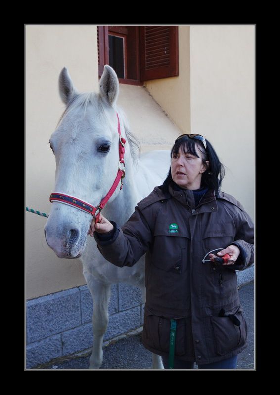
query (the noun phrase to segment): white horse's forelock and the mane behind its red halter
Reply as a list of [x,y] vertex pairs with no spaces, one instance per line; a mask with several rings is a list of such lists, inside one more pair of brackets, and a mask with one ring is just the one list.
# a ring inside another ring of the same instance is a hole
[[[93,107],[95,107],[99,113],[102,113],[102,115],[107,118],[105,111],[106,105],[104,104],[104,101],[102,100],[101,96],[98,93],[94,93],[94,92],[80,93],[74,95],[72,99],[67,103],[67,106],[63,114],[61,115],[57,126],[61,123],[61,121],[67,114],[69,114],[70,112],[76,109],[82,108],[84,109],[84,113],[86,113],[89,103],[92,104]],[[118,107],[117,112],[123,120],[127,141],[131,149],[131,156],[133,158],[133,161],[136,162],[140,155],[140,142],[138,138],[130,131],[124,111]]]

